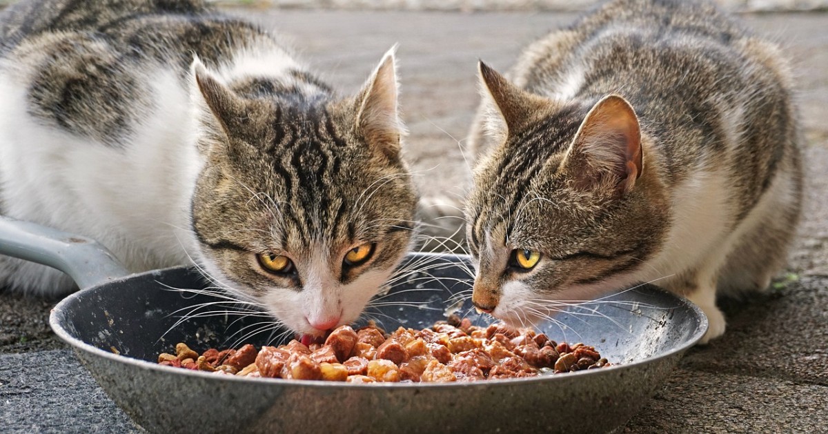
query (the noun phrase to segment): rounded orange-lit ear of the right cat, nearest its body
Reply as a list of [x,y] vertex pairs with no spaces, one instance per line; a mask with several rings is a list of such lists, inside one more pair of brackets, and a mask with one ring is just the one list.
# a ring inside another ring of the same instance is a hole
[[580,124],[564,164],[577,185],[607,180],[621,195],[632,190],[643,171],[641,130],[633,106],[619,95],[596,103]]

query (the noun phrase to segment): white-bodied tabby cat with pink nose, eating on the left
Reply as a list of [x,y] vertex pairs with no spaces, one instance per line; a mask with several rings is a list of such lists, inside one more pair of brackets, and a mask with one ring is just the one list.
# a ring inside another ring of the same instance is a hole
[[[312,335],[354,321],[407,251],[393,50],[340,98],[199,0],[27,0],[0,38],[3,215],[97,239],[133,272],[192,259]],[[11,258],[0,285],[72,289]]]

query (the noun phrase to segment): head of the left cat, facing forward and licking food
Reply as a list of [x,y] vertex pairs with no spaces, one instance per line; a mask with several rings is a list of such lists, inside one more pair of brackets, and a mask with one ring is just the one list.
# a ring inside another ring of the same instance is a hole
[[192,228],[209,277],[320,335],[356,320],[397,267],[416,191],[400,156],[392,51],[351,98],[291,75],[225,84],[194,62],[205,167]]

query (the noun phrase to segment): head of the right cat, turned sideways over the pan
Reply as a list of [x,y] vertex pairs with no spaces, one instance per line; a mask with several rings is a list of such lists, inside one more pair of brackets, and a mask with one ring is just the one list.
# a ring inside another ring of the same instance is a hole
[[520,325],[631,283],[669,218],[633,107],[614,94],[546,99],[479,67],[498,146],[466,204],[474,305]]

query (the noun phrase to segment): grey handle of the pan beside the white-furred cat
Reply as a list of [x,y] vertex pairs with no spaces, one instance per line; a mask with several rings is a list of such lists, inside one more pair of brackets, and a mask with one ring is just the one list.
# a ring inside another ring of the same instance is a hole
[[0,254],[57,268],[81,289],[129,272],[94,239],[0,215]]

